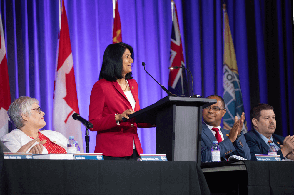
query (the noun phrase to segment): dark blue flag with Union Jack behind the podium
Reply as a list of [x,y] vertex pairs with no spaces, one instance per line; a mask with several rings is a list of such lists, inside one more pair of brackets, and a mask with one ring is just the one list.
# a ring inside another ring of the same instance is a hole
[[[178,24],[178,14],[176,4],[174,4],[173,25],[171,29],[171,52],[170,67],[185,67],[181,33]],[[188,97],[188,82],[185,69],[178,68],[169,71],[168,91],[177,96],[185,95]]]

